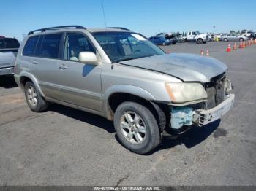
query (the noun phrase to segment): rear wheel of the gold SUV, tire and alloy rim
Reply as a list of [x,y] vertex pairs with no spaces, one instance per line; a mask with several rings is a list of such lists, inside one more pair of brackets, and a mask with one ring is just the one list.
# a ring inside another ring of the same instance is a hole
[[26,103],[33,112],[43,112],[48,108],[48,101],[42,98],[32,82],[26,82],[25,98]]

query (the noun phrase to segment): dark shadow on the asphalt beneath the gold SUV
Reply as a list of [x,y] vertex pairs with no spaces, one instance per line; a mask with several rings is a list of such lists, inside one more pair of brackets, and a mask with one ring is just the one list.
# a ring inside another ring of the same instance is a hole
[[[73,109],[71,107],[59,104],[51,104],[48,110],[52,112],[58,112],[59,114],[64,114],[65,116],[71,117],[75,120],[89,123],[90,125],[94,125],[98,128],[102,128],[108,131],[108,133],[115,133],[113,122],[105,119],[105,117],[100,117],[96,114],[83,112],[79,109]],[[148,153],[147,155],[151,155],[154,152],[162,149],[170,149],[172,147],[175,147],[176,145],[181,144],[184,144],[184,146],[188,149],[195,147],[197,144],[200,144],[201,142],[206,140],[207,137],[210,136],[211,133],[213,133],[214,130],[219,127],[219,124],[220,120],[217,120],[203,127],[193,127],[186,133],[178,136],[178,138],[176,139],[173,139],[170,136],[164,136],[162,139],[162,143],[159,145],[159,147],[157,147],[157,149],[154,149],[154,151]],[[115,138],[120,143],[116,135]]]

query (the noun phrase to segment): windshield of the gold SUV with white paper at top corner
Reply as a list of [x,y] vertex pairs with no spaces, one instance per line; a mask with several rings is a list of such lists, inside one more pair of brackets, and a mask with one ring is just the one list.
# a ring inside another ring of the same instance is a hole
[[165,54],[140,34],[130,32],[95,32],[92,34],[113,62]]

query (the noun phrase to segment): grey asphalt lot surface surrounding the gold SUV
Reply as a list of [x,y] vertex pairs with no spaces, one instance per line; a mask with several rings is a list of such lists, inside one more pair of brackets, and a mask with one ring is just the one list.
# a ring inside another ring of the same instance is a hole
[[[113,123],[57,104],[34,113],[11,77],[0,77],[1,185],[256,185],[256,45],[176,44],[167,52],[227,63],[236,101],[221,121],[165,138],[150,155],[116,141]],[[232,43],[233,44],[233,43]]]

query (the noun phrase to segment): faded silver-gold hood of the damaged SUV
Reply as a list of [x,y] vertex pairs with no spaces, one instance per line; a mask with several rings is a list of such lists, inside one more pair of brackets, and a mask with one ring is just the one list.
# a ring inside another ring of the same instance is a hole
[[227,71],[225,63],[214,58],[184,53],[154,55],[120,63],[159,71],[177,77],[184,82],[210,82],[212,77]]

